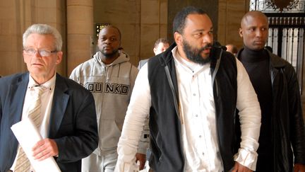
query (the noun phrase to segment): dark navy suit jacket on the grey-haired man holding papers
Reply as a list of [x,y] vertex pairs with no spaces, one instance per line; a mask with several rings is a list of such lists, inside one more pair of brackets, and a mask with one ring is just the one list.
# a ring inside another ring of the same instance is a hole
[[[16,158],[18,141],[11,126],[21,120],[29,74],[0,79],[0,172],[6,172]],[[49,138],[59,149],[55,158],[61,171],[80,172],[81,159],[97,147],[95,102],[90,91],[71,79],[56,75]]]

